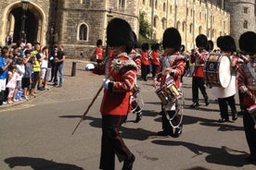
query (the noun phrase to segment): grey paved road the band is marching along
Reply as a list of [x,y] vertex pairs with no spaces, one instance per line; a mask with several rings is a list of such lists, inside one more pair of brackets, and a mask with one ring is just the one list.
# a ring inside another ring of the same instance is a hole
[[[72,60],[64,69],[63,88],[51,88],[38,97],[15,106],[0,107],[0,169],[96,170],[100,154],[102,93],[74,135],[72,130],[101,85],[102,76],[84,71],[77,62],[70,77]],[[148,75],[150,77],[150,75]],[[218,104],[207,89],[211,103],[191,110],[191,78],[185,78],[184,132],[180,138],[158,137],[160,101],[151,81],[140,81],[145,102],[141,122],[129,115],[122,136],[134,152],[134,170],[233,170],[255,169],[244,159],[249,152],[242,118],[220,124]],[[200,96],[201,97],[201,96]],[[237,101],[238,102],[238,101]],[[237,105],[238,109],[238,105]],[[116,169],[122,164],[116,161]]]

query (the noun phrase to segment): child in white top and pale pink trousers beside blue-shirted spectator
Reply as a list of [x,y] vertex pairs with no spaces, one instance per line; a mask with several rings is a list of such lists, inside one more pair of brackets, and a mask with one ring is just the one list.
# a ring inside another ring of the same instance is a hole
[[8,82],[6,88],[8,88],[7,103],[13,103],[14,100],[14,91],[17,85],[18,74],[16,72],[16,66],[10,65],[8,69]]

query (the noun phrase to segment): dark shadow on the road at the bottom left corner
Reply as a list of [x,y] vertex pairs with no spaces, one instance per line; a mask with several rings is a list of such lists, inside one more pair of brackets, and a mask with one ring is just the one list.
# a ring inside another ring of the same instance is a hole
[[5,162],[10,168],[16,166],[31,166],[33,170],[83,170],[82,167],[74,164],[56,163],[43,158],[10,157],[6,158]]

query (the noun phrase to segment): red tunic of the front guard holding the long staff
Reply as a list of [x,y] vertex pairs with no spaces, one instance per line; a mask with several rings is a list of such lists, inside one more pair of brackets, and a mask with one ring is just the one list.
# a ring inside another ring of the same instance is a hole
[[[131,91],[134,89],[134,79],[137,73],[135,63],[126,53],[122,53],[115,58],[122,62],[129,60],[134,67],[122,67],[111,74],[109,79],[114,85],[111,91],[104,90],[100,107],[102,115],[127,115],[131,111],[130,97]],[[113,61],[112,59],[110,62],[113,63]],[[110,69],[112,69],[112,65]]]

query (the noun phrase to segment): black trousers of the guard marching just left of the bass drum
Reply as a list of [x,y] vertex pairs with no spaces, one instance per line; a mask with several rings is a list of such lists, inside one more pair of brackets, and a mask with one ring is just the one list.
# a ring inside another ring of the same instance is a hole
[[206,89],[204,86],[204,79],[193,77],[192,79],[192,101],[193,103],[198,103],[198,89],[201,91],[203,98],[208,99],[208,95],[206,93]]

